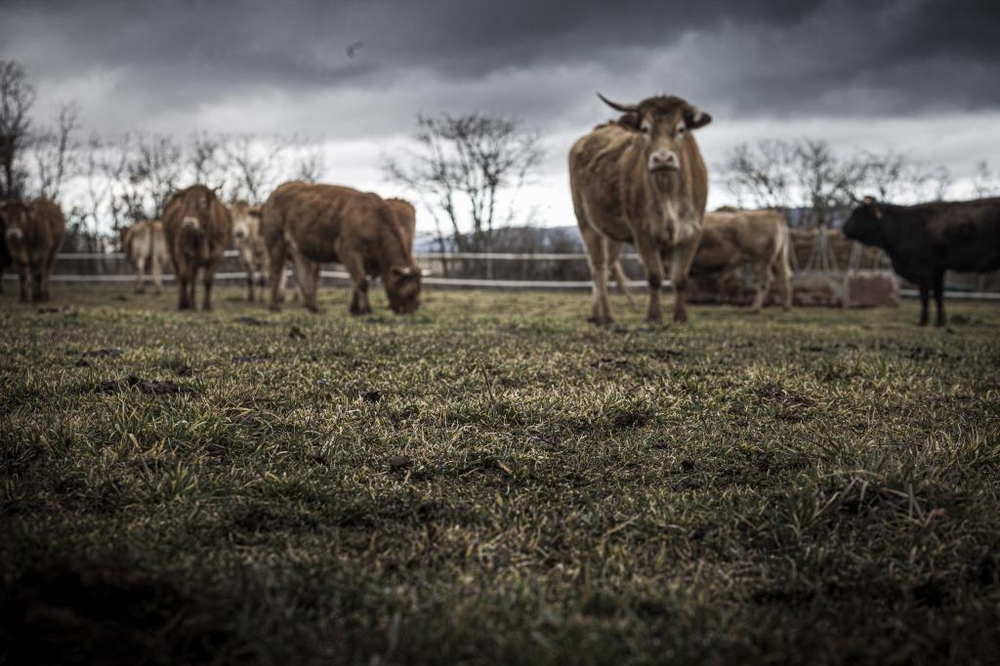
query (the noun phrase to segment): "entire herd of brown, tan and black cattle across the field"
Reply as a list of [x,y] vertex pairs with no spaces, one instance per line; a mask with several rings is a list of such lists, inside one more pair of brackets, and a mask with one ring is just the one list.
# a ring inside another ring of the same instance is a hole
[[[689,275],[742,271],[753,275],[759,310],[775,278],[785,308],[792,302],[789,233],[777,211],[705,212],[708,170],[694,130],[712,118],[674,96],[638,104],[601,99],[623,115],[598,125],[569,151],[573,209],[593,279],[590,320],[612,321],[608,280],[623,286],[619,256],[631,243],[646,269],[646,317],[662,320],[660,289],[666,272],[674,289],[673,319],[687,319]],[[350,312],[372,311],[368,279],[382,282],[389,307],[414,312],[420,302],[421,270],[413,257],[415,211],[402,199],[383,199],[338,185],[289,182],[263,206],[224,205],[215,191],[193,185],[174,193],[163,220],[143,220],[122,234],[122,250],[136,269],[136,291],[144,289],[148,264],[157,293],[162,267],[172,262],[178,307],[195,307],[199,274],[202,308],[211,308],[212,285],[223,254],[235,247],[247,273],[247,298],[267,286],[270,308],[284,300],[288,262],[303,305],[317,310],[320,265],[339,262],[351,279]],[[20,298],[48,299],[48,280],[65,234],[59,207],[46,199],[0,202],[0,272],[17,267]],[[929,321],[933,295],[937,320],[945,322],[944,271],[1000,269],[1000,198],[894,206],[865,199],[844,226],[849,238],[880,247],[921,296],[920,323]],[[0,275],[2,277],[2,275]],[[2,282],[0,282],[2,284]],[[631,297],[630,297],[631,298]]]

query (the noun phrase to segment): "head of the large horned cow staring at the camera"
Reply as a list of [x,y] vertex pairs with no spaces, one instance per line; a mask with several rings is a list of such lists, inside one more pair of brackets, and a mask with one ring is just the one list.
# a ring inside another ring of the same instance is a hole
[[684,142],[690,130],[712,122],[712,116],[680,97],[648,97],[638,104],[619,104],[604,95],[598,97],[612,109],[633,114],[645,140],[646,167],[650,172],[680,171]]

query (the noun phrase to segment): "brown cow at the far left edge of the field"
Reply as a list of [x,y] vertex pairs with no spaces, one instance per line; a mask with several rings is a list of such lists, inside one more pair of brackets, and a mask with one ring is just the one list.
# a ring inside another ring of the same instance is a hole
[[31,203],[6,201],[0,206],[0,223],[7,251],[18,269],[21,302],[28,300],[29,282],[31,300],[49,300],[49,275],[66,235],[62,210],[43,198]]

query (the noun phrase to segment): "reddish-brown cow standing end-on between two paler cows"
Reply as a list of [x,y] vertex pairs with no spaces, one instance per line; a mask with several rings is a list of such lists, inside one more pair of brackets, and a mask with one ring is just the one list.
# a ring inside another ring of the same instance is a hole
[[211,310],[212,282],[233,233],[229,209],[205,185],[192,185],[167,202],[163,230],[177,279],[178,309],[195,307],[195,282],[204,269],[202,307]]

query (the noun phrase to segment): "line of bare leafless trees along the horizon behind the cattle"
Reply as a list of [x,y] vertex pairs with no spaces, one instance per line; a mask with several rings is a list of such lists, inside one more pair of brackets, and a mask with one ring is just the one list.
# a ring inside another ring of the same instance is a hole
[[[260,204],[284,181],[323,178],[315,139],[147,132],[81,138],[78,105],[63,104],[49,124],[36,125],[35,98],[24,67],[0,60],[0,199],[44,196],[60,203],[70,251],[97,250],[108,232],[115,237],[135,221],[159,217],[170,194],[193,182],[228,202]],[[411,149],[382,157],[382,172],[423,204],[441,249],[513,251],[504,244],[514,236],[497,232],[534,220],[519,193],[545,157],[540,133],[516,118],[418,113],[412,139]],[[714,165],[712,177],[735,207],[794,211],[797,225],[835,225],[866,195],[927,201],[945,198],[955,185],[944,167],[893,150],[843,154],[816,138],[739,144]],[[1000,195],[1000,178],[985,160],[977,164],[971,195]]]

